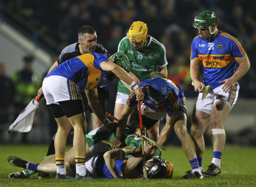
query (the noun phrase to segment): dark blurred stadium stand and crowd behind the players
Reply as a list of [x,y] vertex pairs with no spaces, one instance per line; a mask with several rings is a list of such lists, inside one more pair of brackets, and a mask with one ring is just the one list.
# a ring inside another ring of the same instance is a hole
[[[224,123],[227,143],[256,146],[255,6],[255,0],[0,0],[0,62],[11,76],[22,67],[23,56],[32,54],[33,68],[43,77],[63,47],[77,42],[81,26],[95,28],[98,43],[113,54],[132,22],[143,21],[148,34],[166,47],[169,76],[184,70],[185,76],[177,82],[187,97],[189,129],[197,96],[188,74],[191,42],[196,36],[192,21],[198,13],[211,10],[219,18],[218,28],[240,40],[251,62],[239,81],[239,99]],[[113,114],[117,84],[108,82],[107,88],[111,90],[108,112]],[[44,100],[40,102],[33,129],[27,133],[30,143],[47,143],[51,138],[49,109]],[[6,133],[13,121],[0,126],[1,144],[20,143],[21,133]],[[209,132],[205,138],[209,145]],[[180,143],[172,133],[166,144]]]

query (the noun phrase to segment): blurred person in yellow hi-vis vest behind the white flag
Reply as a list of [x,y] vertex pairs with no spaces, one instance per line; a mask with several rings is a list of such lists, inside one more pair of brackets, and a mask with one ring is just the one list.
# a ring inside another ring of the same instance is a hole
[[[24,56],[24,67],[16,71],[12,76],[16,90],[15,118],[17,118],[28,103],[37,96],[37,91],[42,84],[38,73],[32,69],[33,60],[33,56]],[[26,133],[22,133],[22,142],[26,143]]]

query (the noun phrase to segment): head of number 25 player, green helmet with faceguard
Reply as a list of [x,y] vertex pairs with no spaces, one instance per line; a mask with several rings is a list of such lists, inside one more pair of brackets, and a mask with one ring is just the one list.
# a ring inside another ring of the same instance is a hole
[[[204,11],[197,15],[193,21],[193,27],[197,36],[203,40],[208,40],[217,30],[218,18],[212,11]],[[215,24],[215,30],[212,31],[211,26]],[[205,31],[206,34],[199,34],[198,30]]]

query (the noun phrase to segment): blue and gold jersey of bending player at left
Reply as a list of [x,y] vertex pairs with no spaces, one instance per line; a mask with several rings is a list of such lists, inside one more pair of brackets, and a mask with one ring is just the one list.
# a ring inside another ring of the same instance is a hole
[[107,73],[102,70],[101,65],[108,61],[110,59],[103,54],[83,54],[59,64],[46,77],[59,75],[77,84],[80,90],[97,90]]

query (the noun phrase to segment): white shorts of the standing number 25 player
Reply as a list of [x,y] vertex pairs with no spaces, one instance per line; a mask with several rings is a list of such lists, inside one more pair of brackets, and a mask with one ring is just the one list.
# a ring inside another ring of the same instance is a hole
[[221,101],[226,103],[231,111],[238,97],[239,84],[236,83],[235,88],[230,93],[223,92],[222,86],[223,85],[214,88],[213,90],[210,90],[203,101],[202,93],[199,93],[197,101],[195,103],[195,110],[200,110],[202,112],[210,114],[214,103],[216,103],[217,101]]

